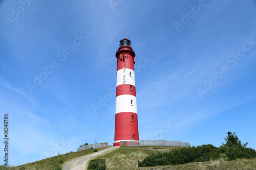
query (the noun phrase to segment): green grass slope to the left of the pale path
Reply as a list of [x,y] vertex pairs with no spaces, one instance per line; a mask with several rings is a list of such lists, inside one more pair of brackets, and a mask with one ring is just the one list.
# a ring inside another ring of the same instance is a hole
[[[98,151],[101,151],[103,149],[97,149]],[[32,162],[32,163],[27,163],[24,165],[19,165],[16,167],[9,167],[9,168],[5,168],[5,167],[1,167],[0,169],[12,169],[12,170],[35,170],[35,169],[44,169],[44,170],[53,170],[55,169],[55,165],[59,165],[59,166],[63,166],[65,163],[71,161],[74,158],[80,157],[80,156],[84,156],[84,155],[88,155],[88,154],[92,154],[94,153],[94,150],[84,150],[84,151],[78,151],[78,152],[70,152],[67,154],[63,154],[63,155],[59,155],[59,156],[54,156],[51,158],[47,158],[47,159],[42,159],[36,162]],[[63,163],[61,163],[62,161]]]

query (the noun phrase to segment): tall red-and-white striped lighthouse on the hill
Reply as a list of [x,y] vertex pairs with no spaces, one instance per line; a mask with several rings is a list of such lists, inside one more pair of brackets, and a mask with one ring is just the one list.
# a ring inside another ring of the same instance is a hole
[[135,52],[131,41],[122,39],[116,52],[116,114],[114,146],[120,141],[139,140],[135,88]]

